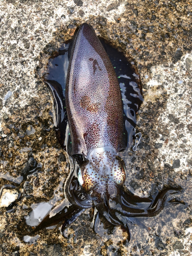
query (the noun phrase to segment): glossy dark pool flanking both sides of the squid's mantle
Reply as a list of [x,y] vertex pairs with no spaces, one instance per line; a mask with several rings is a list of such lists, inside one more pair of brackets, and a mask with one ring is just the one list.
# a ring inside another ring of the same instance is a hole
[[[124,140],[126,148],[130,148],[135,136],[136,113],[143,101],[141,81],[134,62],[130,63],[122,52],[107,44],[102,38],[101,43],[108,54],[115,69],[123,100]],[[71,42],[63,44],[56,56],[51,57],[48,62],[45,81],[51,89],[55,106],[55,132],[57,139],[64,150],[66,145],[67,114],[65,102],[65,88]],[[70,143],[70,140],[69,140]],[[69,149],[70,145],[68,145]],[[69,150],[68,150],[69,153]]]

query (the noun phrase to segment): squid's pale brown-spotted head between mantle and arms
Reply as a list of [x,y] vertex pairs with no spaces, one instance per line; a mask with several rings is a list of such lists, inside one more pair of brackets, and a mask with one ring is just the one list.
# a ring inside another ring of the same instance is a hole
[[111,198],[117,195],[117,186],[125,181],[123,160],[116,156],[111,148],[97,148],[91,151],[86,161],[80,168],[83,179],[82,187],[92,197],[100,201],[104,195]]

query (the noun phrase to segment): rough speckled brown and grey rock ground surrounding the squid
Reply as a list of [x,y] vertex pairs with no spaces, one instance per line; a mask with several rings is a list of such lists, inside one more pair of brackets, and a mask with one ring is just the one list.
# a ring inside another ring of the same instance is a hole
[[[191,255],[191,3],[7,0],[0,10],[0,189],[19,195],[0,208],[0,254]],[[53,100],[42,75],[49,57],[83,22],[140,72],[142,139],[136,152],[121,153],[126,186],[148,197],[176,182],[183,191],[175,197],[185,205],[167,204],[156,217],[130,220],[130,242],[120,227],[95,234],[92,209],[65,238],[58,225],[25,242],[30,212],[41,202],[53,207],[65,198],[68,157],[56,140]]]

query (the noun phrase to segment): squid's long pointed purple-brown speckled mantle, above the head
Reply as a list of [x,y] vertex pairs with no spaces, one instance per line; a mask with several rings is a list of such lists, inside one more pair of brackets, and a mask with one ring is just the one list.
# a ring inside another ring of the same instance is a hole
[[73,42],[66,107],[72,155],[88,156],[94,148],[124,148],[123,109],[119,83],[104,48],[88,24],[80,26]]

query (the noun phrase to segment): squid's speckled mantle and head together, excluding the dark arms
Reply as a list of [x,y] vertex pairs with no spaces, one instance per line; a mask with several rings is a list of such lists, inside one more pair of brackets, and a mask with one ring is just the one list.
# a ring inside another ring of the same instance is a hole
[[88,24],[74,38],[66,84],[66,107],[72,155],[82,154],[78,181],[91,192],[94,205],[117,195],[125,181],[124,164],[116,158],[125,147],[119,83],[100,40]]

